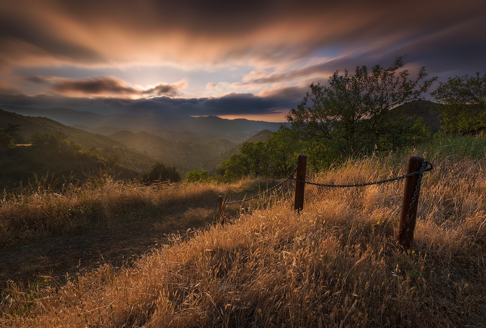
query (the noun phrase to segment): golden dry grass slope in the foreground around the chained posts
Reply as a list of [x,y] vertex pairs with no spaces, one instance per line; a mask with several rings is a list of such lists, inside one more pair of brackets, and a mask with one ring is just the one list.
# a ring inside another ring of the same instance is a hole
[[[457,327],[486,323],[486,142],[434,141],[309,178],[347,184],[396,176],[425,155],[413,253],[396,249],[402,183],[306,187],[174,241],[120,271],[3,297],[15,327]],[[183,192],[182,190],[180,192]]]

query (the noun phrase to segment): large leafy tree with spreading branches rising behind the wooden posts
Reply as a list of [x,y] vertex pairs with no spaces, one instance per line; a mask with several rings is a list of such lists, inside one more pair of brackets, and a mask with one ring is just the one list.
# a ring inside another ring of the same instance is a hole
[[425,67],[415,79],[402,68],[403,57],[398,57],[387,69],[376,65],[371,71],[356,67],[354,74],[347,69],[344,74],[336,71],[327,86],[311,84],[311,91],[291,109],[287,120],[312,147],[336,156],[353,150],[400,147],[423,130],[391,109],[422,99],[436,80],[426,79]]

